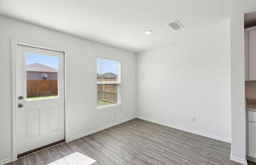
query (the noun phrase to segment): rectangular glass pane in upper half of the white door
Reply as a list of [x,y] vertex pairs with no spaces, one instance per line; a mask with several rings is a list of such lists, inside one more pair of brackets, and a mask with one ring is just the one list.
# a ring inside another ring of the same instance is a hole
[[26,100],[58,97],[58,57],[26,53]]

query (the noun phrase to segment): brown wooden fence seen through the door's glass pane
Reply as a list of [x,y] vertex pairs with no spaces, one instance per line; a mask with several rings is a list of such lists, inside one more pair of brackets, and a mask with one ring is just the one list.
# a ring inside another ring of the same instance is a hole
[[26,80],[26,97],[58,95],[58,80]]

